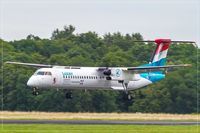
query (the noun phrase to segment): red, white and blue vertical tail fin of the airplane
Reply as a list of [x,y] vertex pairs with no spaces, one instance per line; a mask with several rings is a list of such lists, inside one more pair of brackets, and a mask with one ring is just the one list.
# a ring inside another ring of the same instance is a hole
[[156,39],[156,49],[149,62],[150,66],[163,66],[166,64],[166,57],[169,46],[171,44],[170,39]]

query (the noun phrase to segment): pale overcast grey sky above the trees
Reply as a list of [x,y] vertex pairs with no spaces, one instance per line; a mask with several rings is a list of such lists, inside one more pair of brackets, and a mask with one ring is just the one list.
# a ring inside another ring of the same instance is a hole
[[142,34],[145,40],[170,38],[200,46],[200,0],[0,0],[0,38],[33,34],[50,38],[64,25],[75,33]]

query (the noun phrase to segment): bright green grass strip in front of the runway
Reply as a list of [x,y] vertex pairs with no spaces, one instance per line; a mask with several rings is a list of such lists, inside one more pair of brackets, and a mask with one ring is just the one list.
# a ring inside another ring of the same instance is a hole
[[197,126],[4,124],[1,133],[199,133]]

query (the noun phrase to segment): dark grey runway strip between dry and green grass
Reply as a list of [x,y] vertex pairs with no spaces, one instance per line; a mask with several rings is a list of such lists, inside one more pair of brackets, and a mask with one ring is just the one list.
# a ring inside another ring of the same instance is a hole
[[197,121],[128,120],[1,120],[1,124],[111,124],[111,125],[199,125]]

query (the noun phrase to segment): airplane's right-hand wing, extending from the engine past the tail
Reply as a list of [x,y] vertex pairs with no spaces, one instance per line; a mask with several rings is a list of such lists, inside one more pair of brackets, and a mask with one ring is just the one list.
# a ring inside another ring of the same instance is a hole
[[191,64],[180,64],[180,65],[166,65],[166,66],[141,66],[141,67],[128,67],[123,71],[132,71],[132,72],[153,72],[159,70],[168,70],[175,67],[190,67]]

